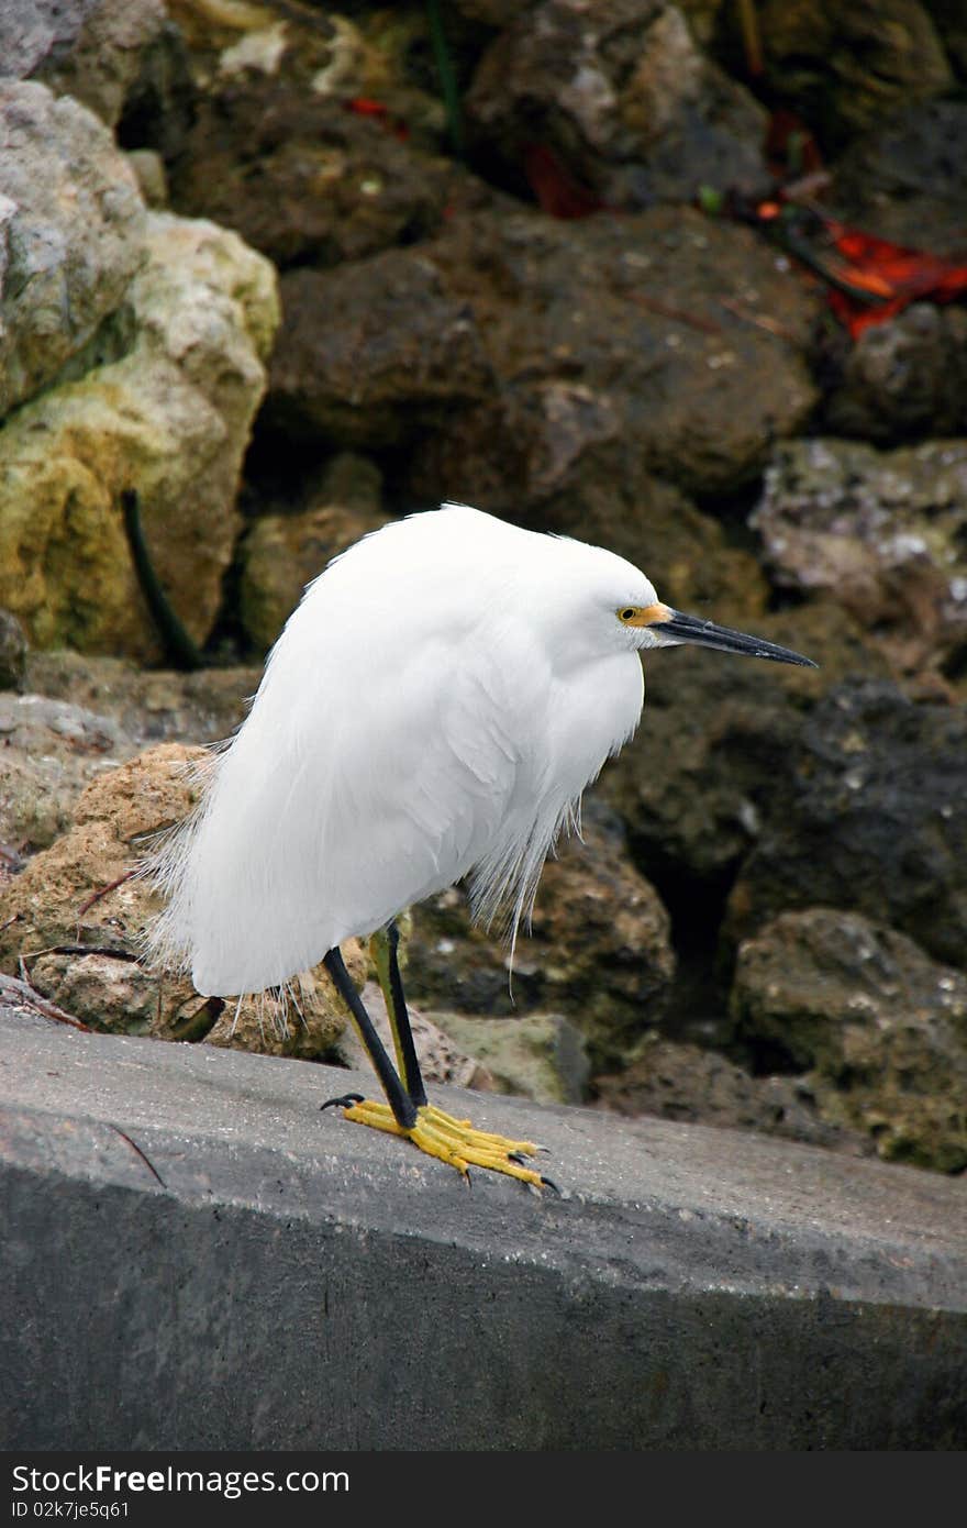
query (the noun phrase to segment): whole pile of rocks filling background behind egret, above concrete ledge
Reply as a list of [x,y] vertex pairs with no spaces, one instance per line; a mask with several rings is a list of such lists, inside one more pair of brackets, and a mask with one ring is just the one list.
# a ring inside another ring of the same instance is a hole
[[6,0],[0,70],[6,1001],[353,1059],[145,970],[128,872],[306,581],[464,500],[822,666],[648,663],[513,996],[414,909],[432,1074],[964,1170],[962,0]]

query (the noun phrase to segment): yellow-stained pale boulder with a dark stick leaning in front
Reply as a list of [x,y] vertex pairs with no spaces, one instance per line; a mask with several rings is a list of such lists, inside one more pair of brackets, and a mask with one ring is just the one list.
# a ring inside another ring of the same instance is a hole
[[235,234],[160,212],[142,255],[102,364],[89,358],[0,434],[0,601],[40,646],[159,656],[121,521],[130,489],[197,642],[220,605],[275,277]]

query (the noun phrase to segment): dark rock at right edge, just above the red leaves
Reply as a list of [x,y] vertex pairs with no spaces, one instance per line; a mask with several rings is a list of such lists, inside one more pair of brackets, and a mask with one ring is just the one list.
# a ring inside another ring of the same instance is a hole
[[914,249],[967,249],[967,101],[924,101],[863,134],[834,165],[831,208]]

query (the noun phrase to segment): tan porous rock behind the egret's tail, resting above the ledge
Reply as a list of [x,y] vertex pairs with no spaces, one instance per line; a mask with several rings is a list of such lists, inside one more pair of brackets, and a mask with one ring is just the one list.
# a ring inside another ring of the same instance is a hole
[[[261,995],[226,1007],[199,996],[186,976],[139,958],[145,924],[162,903],[134,869],[153,837],[197,802],[205,759],[200,749],[165,743],[87,785],[67,833],[6,888],[0,967],[26,970],[44,998],[92,1028],[319,1056],[345,1024],[321,969],[296,981],[298,1010]],[[347,941],[345,955],[359,979],[362,949]]]

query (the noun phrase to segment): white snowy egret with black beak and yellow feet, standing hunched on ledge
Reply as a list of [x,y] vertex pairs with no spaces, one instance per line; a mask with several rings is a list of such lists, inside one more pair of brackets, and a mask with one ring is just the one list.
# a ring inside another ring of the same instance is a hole
[[[663,605],[623,558],[466,504],[365,536],[312,582],[196,814],[154,874],[156,958],[206,996],[284,989],[319,961],[386,1102],[333,1100],[466,1174],[542,1184],[536,1148],[426,1102],[394,918],[469,877],[474,914],[526,918],[581,793],[634,732],[640,654],[698,643],[810,659]],[[370,937],[394,1068],[339,943]]]

